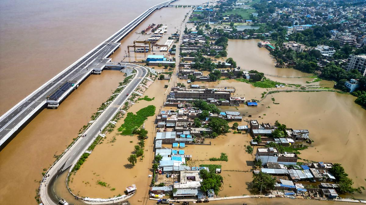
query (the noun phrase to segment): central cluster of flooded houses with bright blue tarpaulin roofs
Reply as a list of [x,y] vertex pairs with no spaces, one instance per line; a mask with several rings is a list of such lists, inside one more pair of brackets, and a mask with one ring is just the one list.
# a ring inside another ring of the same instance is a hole
[[[187,145],[199,143],[201,138],[212,133],[212,129],[195,127],[194,119],[202,113],[197,108],[182,108],[176,111],[161,111],[156,117],[157,133],[155,138],[155,156],[162,156],[158,169],[155,170],[155,184],[164,186],[152,186],[150,196],[162,198],[170,194],[173,189],[174,198],[193,197],[204,199],[213,197],[213,190],[208,193],[199,188],[202,179],[199,171],[208,170],[207,167],[187,166],[187,161],[192,155],[185,153]],[[212,114],[211,114],[212,115]],[[208,119],[202,120],[207,124]],[[209,171],[209,170],[208,170]],[[217,170],[220,172],[221,170]]]

